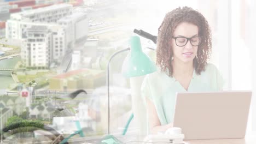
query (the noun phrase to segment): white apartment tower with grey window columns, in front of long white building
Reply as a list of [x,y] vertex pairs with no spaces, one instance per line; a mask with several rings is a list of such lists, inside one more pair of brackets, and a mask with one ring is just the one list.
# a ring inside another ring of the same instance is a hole
[[21,59],[27,67],[49,68],[65,55],[65,29],[49,23],[21,22]]

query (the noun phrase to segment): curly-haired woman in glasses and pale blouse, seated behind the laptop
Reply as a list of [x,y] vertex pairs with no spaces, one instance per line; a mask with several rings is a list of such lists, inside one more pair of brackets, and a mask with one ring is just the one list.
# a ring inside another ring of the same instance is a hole
[[172,127],[176,92],[221,91],[223,77],[208,64],[212,50],[211,30],[201,13],[188,7],[166,14],[159,27],[156,65],[145,77],[150,133]]

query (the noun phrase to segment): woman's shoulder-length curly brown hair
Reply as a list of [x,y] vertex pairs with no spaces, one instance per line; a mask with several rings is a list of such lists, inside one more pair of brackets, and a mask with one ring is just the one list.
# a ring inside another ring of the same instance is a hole
[[211,29],[205,17],[198,11],[189,7],[179,7],[167,13],[161,26],[158,28],[158,40],[156,49],[156,65],[161,71],[168,71],[168,75],[172,76],[172,57],[173,50],[170,40],[176,27],[182,23],[188,22],[199,28],[199,37],[201,44],[197,49],[197,56],[193,59],[193,65],[196,74],[201,74],[205,70],[205,65],[210,59],[212,51]]

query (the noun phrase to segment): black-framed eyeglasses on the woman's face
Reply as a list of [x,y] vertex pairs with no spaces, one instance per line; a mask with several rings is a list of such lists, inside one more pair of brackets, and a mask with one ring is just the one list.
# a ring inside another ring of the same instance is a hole
[[172,37],[175,39],[175,43],[177,46],[185,46],[187,45],[188,41],[190,41],[190,44],[193,46],[199,46],[201,44],[201,38],[200,37]]

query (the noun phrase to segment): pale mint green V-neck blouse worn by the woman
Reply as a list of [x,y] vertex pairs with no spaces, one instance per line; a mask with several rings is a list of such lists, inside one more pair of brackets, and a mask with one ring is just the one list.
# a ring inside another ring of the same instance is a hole
[[148,74],[142,83],[142,97],[152,100],[161,125],[173,122],[176,92],[214,92],[223,89],[224,80],[213,64],[207,64],[205,71],[197,75],[193,71],[188,91],[174,78],[160,70]]

